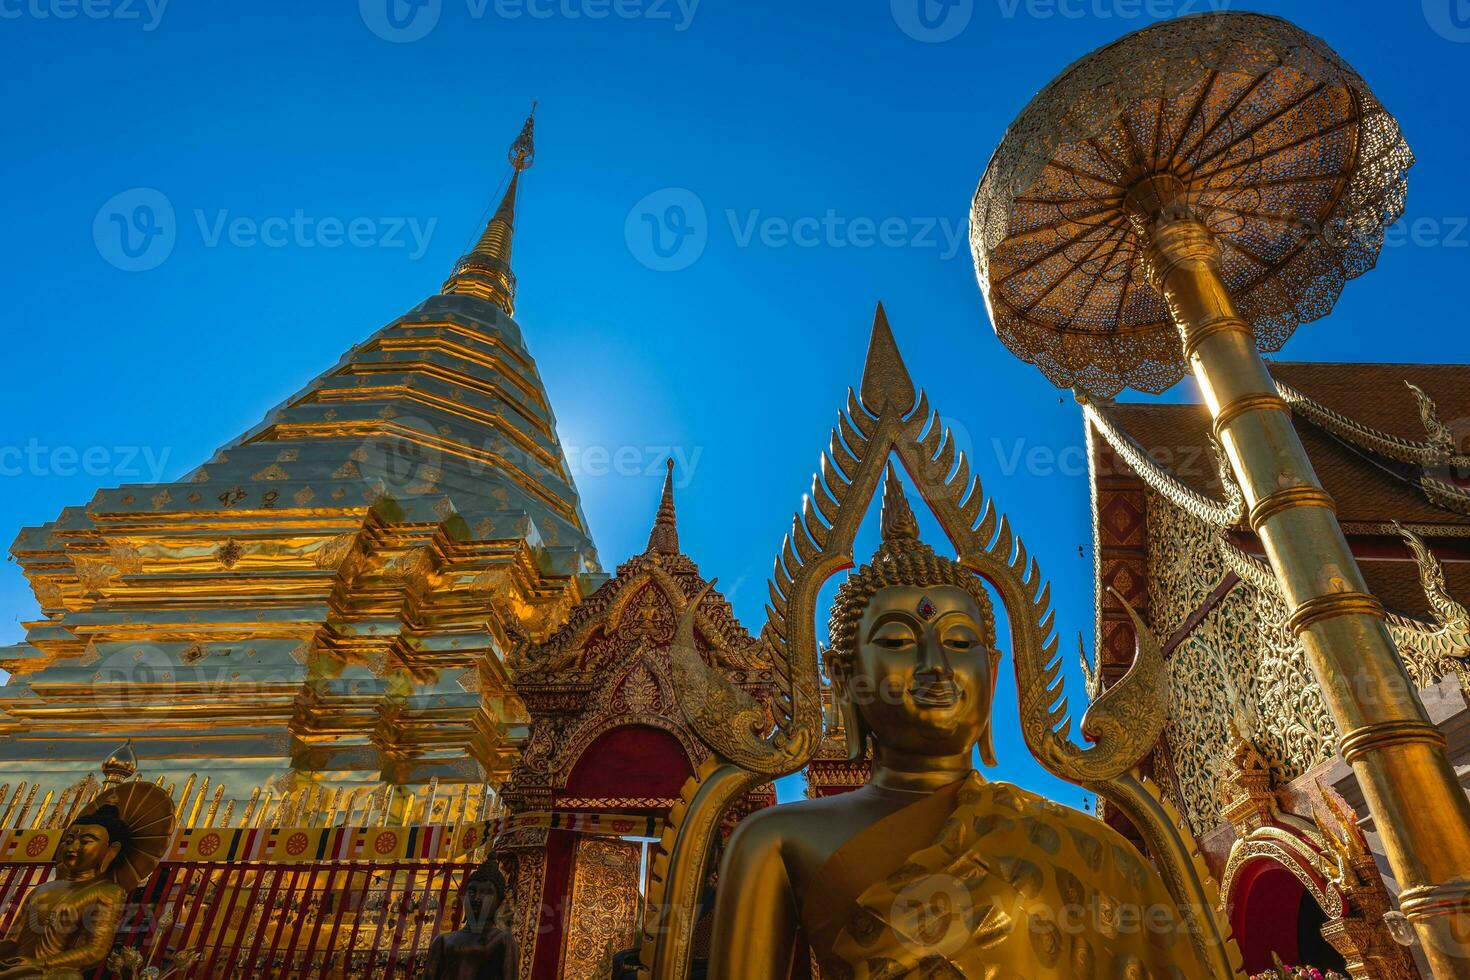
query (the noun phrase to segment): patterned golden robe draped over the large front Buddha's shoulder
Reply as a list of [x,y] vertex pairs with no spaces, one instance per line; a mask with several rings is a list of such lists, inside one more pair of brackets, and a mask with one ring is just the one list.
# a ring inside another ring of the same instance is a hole
[[803,921],[823,980],[1210,977],[1127,840],[975,773],[842,845]]

